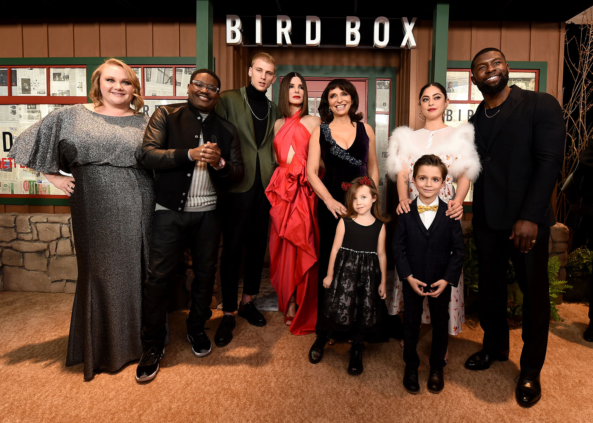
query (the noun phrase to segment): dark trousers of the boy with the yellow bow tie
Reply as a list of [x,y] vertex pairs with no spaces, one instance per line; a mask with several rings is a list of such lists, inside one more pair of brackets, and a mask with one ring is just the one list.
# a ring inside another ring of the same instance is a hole
[[[420,357],[416,351],[424,298],[419,296],[408,283],[401,281],[404,295],[404,363],[406,367],[417,369]],[[451,301],[451,285],[447,285],[441,294],[428,297],[428,309],[431,312],[432,344],[429,364],[431,368],[445,367],[445,355],[449,345],[449,302]]]

